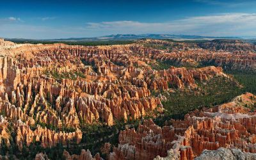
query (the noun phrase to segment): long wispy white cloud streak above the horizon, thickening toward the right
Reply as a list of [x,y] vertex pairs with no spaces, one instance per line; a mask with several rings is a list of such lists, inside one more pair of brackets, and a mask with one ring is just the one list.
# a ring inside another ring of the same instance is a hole
[[[255,31],[256,13],[226,13],[189,17],[170,22],[89,22],[86,29],[115,33],[172,33],[189,35],[246,35]],[[247,31],[248,30],[248,31]],[[243,31],[239,33],[239,31]],[[255,33],[256,35],[256,33]]]

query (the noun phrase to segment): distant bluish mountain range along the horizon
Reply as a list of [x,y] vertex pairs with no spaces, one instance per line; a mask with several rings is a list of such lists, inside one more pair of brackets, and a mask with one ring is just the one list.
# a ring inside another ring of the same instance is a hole
[[[97,41],[97,40],[139,40],[143,38],[154,38],[154,39],[173,39],[173,40],[212,40],[212,39],[242,39],[236,36],[197,36],[197,35],[166,35],[166,34],[118,34],[118,35],[107,35],[97,36],[92,38],[60,38],[60,39],[44,39],[39,41]],[[16,41],[35,41],[32,39],[23,38],[5,38],[6,40]]]

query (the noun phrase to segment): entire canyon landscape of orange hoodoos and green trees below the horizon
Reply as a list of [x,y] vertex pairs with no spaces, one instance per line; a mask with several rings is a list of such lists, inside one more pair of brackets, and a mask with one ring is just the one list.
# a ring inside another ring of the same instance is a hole
[[256,159],[253,42],[109,44],[0,39],[1,159]]

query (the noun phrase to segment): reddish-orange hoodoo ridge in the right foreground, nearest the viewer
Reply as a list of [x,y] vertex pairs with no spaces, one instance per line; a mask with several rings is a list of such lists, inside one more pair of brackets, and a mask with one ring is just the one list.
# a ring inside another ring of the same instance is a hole
[[[204,150],[217,151],[204,151],[199,159],[212,153],[216,153],[213,159],[220,159],[223,156],[236,159],[239,155],[253,157],[254,154],[244,152],[256,151],[253,129],[256,113],[250,112],[250,109],[244,106],[252,106],[255,102],[254,95],[245,93],[232,102],[191,112],[184,120],[171,120],[170,126],[158,127],[152,120],[145,120],[137,131],[126,129],[120,132],[119,145],[109,157],[110,159],[194,159]],[[242,151],[221,147],[240,148]],[[233,153],[235,151],[237,152]]]

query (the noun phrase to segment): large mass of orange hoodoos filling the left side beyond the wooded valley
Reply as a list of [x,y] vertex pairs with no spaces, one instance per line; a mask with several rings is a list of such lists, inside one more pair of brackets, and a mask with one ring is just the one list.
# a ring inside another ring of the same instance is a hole
[[150,57],[161,52],[138,44],[1,45],[2,134],[8,141],[5,129],[12,125],[20,150],[36,141],[44,148],[78,144],[81,125],[115,125],[162,113],[161,99],[152,91],[195,88],[196,81],[227,76],[220,67],[153,70]]

